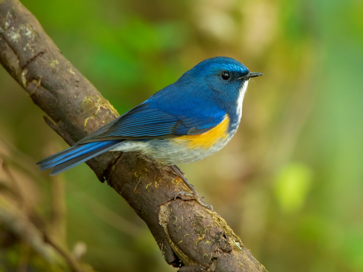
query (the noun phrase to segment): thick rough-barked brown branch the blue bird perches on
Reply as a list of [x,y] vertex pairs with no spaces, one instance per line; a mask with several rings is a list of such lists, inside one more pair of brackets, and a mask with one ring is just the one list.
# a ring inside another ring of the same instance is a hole
[[[17,0],[0,0],[0,62],[70,145],[118,116]],[[147,223],[168,264],[184,272],[266,271],[217,213],[190,197],[174,201],[188,189],[170,168],[132,152],[87,164]]]

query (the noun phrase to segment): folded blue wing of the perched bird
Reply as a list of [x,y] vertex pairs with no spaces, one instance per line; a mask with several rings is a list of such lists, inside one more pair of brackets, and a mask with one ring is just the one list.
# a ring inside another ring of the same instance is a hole
[[[86,136],[77,144],[108,140],[196,135],[215,127],[225,116],[225,112],[221,109],[218,109],[218,111],[213,109],[202,115],[198,112],[198,109],[188,111],[185,110],[185,107],[182,108],[184,109],[183,112],[173,111],[176,113],[172,114],[163,108],[156,108],[147,100],[110,124]],[[195,111],[198,114],[193,115]],[[214,114],[212,115],[212,113]]]

